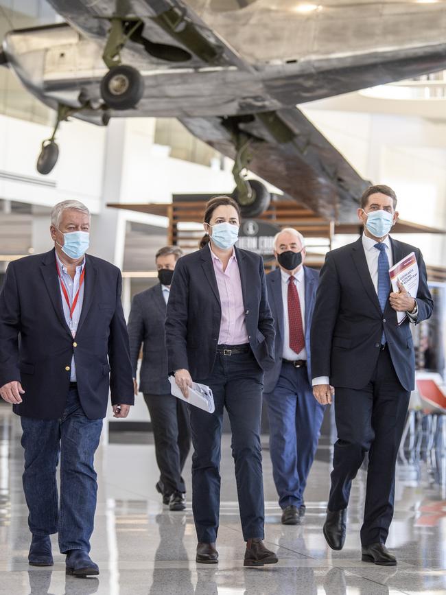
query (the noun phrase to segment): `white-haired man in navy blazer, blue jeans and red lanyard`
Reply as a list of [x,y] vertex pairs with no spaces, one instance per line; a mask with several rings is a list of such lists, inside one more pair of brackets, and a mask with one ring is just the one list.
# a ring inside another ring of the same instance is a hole
[[21,417],[30,564],[53,564],[49,535],[58,533],[67,573],[88,576],[99,574],[89,557],[95,450],[109,388],[115,417],[127,417],[133,404],[132,366],[121,273],[85,255],[89,210],[77,200],[60,202],[50,230],[53,250],[14,261],[6,272],[0,395]]

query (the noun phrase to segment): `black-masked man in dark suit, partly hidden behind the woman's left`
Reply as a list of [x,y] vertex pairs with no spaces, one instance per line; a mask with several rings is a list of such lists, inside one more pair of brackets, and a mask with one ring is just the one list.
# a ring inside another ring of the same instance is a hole
[[161,473],[156,489],[171,511],[186,508],[186,486],[181,473],[191,447],[187,405],[170,393],[164,332],[170,283],[176,261],[182,255],[176,246],[165,246],[156,253],[159,283],[134,296],[128,318],[134,392],[137,395],[137,364],[143,345],[139,390],[152,420],[156,463]]

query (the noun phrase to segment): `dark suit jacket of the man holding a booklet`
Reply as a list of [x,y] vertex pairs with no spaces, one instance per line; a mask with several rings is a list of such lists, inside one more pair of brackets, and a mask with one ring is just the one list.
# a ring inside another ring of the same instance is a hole
[[[394,264],[411,252],[416,255],[419,323],[430,317],[434,305],[423,256],[419,248],[392,238],[390,242]],[[327,253],[320,272],[311,332],[313,377],[329,376],[335,387],[366,386],[377,363],[383,329],[399,382],[413,390],[415,358],[409,320],[398,325],[389,301],[382,313],[360,237]]]

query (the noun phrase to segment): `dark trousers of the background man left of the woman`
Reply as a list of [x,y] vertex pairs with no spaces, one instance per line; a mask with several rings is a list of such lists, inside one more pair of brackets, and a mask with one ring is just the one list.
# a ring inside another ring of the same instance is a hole
[[156,463],[164,493],[185,493],[186,486],[181,473],[191,447],[187,405],[173,395],[144,393],[144,400],[152,420]]

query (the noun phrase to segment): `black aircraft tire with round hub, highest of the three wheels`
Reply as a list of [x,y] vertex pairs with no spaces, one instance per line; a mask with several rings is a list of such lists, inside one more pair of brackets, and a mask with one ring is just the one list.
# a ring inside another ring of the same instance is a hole
[[113,110],[130,110],[137,106],[144,93],[144,80],[136,68],[114,66],[101,81],[101,95]]

